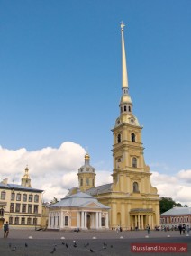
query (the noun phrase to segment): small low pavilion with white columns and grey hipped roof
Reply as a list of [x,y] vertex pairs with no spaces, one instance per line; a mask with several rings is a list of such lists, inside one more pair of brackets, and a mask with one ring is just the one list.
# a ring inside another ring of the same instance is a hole
[[62,198],[49,206],[49,229],[86,230],[108,229],[110,207],[98,202],[95,197],[78,192]]

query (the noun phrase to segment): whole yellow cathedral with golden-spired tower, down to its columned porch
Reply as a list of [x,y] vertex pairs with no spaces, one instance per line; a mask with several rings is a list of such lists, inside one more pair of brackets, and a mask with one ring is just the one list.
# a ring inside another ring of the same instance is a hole
[[147,224],[154,228],[159,225],[159,195],[157,188],[151,186],[150,167],[144,160],[142,126],[132,111],[123,30],[122,23],[122,96],[120,114],[112,129],[113,183],[91,187],[86,193],[111,208],[110,228],[120,225],[124,230],[145,229]]

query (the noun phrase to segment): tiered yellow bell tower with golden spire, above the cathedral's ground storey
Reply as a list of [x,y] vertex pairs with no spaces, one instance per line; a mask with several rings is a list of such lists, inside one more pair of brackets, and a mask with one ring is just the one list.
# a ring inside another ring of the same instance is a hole
[[123,29],[124,24],[121,23],[122,96],[119,104],[120,114],[112,130],[114,136],[112,150],[114,161],[113,181],[114,187],[118,191],[130,193],[134,190],[139,192],[141,189],[141,192],[143,192],[146,184],[143,185],[141,177],[143,177],[143,173],[147,173],[149,178],[150,169],[144,162],[144,148],[141,142],[142,127],[132,111],[133,105],[129,95]]

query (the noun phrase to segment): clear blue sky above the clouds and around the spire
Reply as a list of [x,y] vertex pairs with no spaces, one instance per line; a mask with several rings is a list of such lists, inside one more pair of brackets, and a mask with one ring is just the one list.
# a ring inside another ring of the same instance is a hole
[[1,1],[2,148],[40,151],[75,142],[88,148],[96,169],[112,171],[121,21],[145,161],[160,174],[190,169],[191,2],[186,0]]

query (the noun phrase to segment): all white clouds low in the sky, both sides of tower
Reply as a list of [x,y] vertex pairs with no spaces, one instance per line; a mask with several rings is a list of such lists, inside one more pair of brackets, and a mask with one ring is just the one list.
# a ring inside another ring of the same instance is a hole
[[[60,147],[47,147],[38,151],[7,150],[0,146],[0,180],[21,184],[24,169],[29,166],[32,187],[44,190],[44,200],[58,199],[68,189],[78,186],[77,170],[84,164],[85,150],[74,142],[63,142]],[[151,184],[158,188],[160,197],[172,197],[183,205],[191,205],[191,170],[159,174],[151,171]],[[96,169],[96,186],[112,182],[112,172]]]

